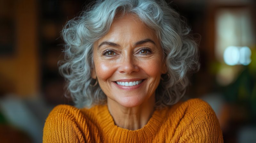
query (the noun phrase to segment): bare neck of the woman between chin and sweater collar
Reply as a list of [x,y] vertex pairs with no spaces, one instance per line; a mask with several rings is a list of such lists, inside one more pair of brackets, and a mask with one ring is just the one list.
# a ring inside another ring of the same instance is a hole
[[138,130],[144,127],[154,112],[155,96],[139,106],[124,107],[108,98],[108,110],[117,126],[128,130]]

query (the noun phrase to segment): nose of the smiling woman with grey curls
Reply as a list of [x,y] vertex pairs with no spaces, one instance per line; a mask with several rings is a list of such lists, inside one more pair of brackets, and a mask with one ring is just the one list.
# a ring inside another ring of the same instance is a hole
[[138,72],[139,67],[137,65],[136,59],[134,59],[134,57],[131,55],[123,56],[119,64],[118,71],[127,75]]

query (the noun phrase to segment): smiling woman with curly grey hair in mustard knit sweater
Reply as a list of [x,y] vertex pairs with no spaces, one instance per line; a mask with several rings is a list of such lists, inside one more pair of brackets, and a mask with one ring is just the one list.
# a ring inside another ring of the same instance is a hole
[[178,102],[198,69],[188,33],[164,0],[105,0],[70,20],[59,68],[83,108],[55,107],[43,142],[223,142],[207,103]]

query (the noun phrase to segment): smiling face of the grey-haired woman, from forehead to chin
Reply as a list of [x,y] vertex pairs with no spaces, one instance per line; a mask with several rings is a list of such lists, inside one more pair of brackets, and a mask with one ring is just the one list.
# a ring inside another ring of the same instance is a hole
[[93,46],[92,78],[109,100],[124,107],[147,102],[166,66],[155,32],[135,15],[116,19],[110,31]]

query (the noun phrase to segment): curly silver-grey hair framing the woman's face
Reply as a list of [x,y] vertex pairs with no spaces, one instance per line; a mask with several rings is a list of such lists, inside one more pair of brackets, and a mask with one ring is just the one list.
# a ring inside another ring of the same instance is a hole
[[188,86],[186,73],[197,71],[198,45],[190,36],[190,28],[178,12],[164,0],[97,1],[69,20],[62,30],[65,41],[64,60],[59,61],[60,74],[66,79],[67,91],[77,107],[90,108],[105,104],[106,95],[99,84],[92,86],[93,43],[106,35],[116,14],[136,14],[155,30],[161,41],[167,73],[156,89],[156,107],[172,105],[180,100]]

